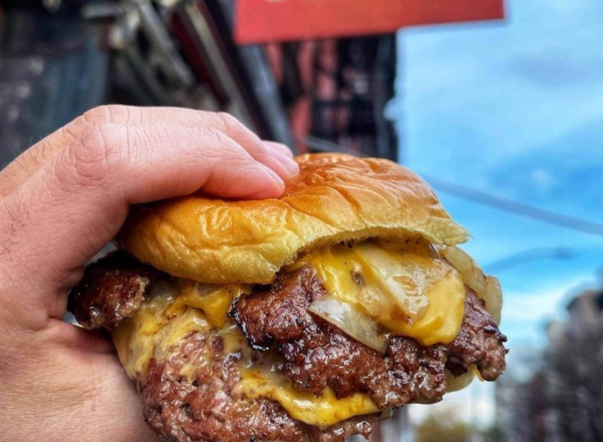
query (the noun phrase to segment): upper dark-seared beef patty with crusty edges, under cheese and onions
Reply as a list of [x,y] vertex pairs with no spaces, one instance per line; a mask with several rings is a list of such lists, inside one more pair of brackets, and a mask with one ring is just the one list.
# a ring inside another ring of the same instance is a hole
[[445,366],[458,375],[475,364],[486,380],[505,369],[506,338],[470,289],[455,341],[422,347],[414,339],[396,337],[384,355],[308,312],[312,301],[326,295],[314,269],[306,266],[280,274],[270,286],[233,303],[231,314],[251,347],[279,353],[286,361],[282,373],[299,389],[317,396],[327,386],[338,397],[362,392],[387,409],[441,400]]

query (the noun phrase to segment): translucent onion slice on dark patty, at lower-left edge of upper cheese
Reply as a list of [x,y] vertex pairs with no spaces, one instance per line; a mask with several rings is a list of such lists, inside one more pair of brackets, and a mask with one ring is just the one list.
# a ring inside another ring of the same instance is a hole
[[312,302],[308,310],[367,347],[380,353],[387,350],[389,335],[381,331],[379,324],[370,316],[352,304],[334,296],[324,296]]

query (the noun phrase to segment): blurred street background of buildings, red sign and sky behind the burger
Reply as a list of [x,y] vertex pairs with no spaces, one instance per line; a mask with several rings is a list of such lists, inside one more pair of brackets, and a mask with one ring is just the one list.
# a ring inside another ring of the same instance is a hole
[[0,167],[104,103],[408,165],[502,282],[496,383],[374,441],[603,440],[603,3],[4,1]]

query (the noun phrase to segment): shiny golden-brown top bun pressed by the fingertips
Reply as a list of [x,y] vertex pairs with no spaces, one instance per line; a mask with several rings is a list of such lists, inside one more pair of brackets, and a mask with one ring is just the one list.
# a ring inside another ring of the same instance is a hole
[[318,154],[295,158],[300,174],[279,199],[192,194],[133,207],[116,237],[140,261],[203,283],[270,283],[300,252],[369,237],[465,242],[467,231],[431,187],[386,159]]

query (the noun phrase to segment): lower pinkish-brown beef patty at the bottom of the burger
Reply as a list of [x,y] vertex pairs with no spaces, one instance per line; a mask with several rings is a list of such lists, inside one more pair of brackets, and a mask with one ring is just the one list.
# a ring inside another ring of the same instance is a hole
[[[211,364],[204,363],[208,353]],[[167,360],[151,359],[137,379],[145,420],[178,442],[343,442],[355,434],[368,437],[376,415],[353,417],[321,431],[289,417],[277,402],[239,399],[233,394],[241,380],[239,357],[224,354],[223,339],[212,332],[192,333]],[[185,364],[198,367],[190,379],[180,375]]]

